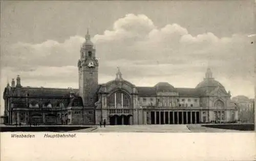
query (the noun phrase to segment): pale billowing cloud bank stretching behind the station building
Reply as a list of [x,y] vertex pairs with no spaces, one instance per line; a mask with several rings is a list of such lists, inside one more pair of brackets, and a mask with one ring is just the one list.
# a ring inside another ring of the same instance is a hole
[[[83,41],[83,37],[75,35],[62,43],[48,40],[2,45],[2,71],[9,78],[19,74],[23,82],[37,86],[42,82],[46,86],[53,82],[78,86],[76,65]],[[193,36],[178,24],[158,27],[146,15],[127,14],[114,22],[112,30],[93,36],[92,41],[99,57],[101,83],[113,79],[116,66],[120,66],[125,79],[137,85],[169,81],[174,86],[183,83],[195,87],[207,65],[226,86],[235,80],[240,85],[243,79],[247,84],[253,82],[254,44],[248,35],[217,37],[208,32]],[[238,87],[229,87],[239,92]]]

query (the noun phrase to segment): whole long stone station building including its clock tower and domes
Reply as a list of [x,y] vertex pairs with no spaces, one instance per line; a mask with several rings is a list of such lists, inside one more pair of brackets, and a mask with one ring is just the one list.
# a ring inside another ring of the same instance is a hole
[[238,120],[230,92],[208,68],[196,88],[167,82],[139,87],[116,78],[98,84],[96,50],[87,33],[78,60],[79,88],[23,87],[20,77],[4,91],[5,124],[108,125],[226,123]]

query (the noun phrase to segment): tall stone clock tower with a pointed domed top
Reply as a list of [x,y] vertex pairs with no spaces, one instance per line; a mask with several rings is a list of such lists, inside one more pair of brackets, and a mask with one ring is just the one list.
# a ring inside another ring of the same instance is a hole
[[84,107],[94,107],[96,101],[99,64],[95,53],[96,50],[91,41],[89,30],[87,30],[86,40],[81,45],[80,59],[77,64],[79,73],[79,96],[83,100]]

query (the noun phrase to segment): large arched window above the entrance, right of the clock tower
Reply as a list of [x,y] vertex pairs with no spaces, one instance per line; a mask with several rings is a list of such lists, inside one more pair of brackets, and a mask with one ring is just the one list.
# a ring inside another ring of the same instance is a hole
[[129,96],[121,91],[117,91],[108,98],[108,106],[114,108],[130,107]]

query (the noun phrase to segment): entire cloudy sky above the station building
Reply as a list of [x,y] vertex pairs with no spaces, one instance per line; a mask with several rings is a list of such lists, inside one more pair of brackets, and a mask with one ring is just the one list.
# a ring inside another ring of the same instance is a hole
[[253,1],[1,1],[1,108],[7,81],[78,88],[87,29],[99,83],[196,87],[209,66],[232,96],[254,97]]

